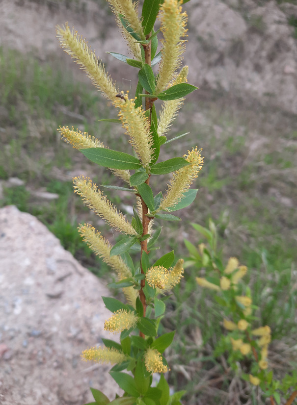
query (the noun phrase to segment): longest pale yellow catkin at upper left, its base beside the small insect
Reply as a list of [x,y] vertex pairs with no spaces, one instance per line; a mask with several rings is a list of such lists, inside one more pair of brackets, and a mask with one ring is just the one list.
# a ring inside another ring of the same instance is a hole
[[110,101],[114,101],[118,90],[112,82],[102,61],[91,51],[87,42],[79,36],[74,29],[71,31],[68,23],[64,27],[56,27],[57,38],[61,48],[68,53],[87,76],[92,80],[103,95]]

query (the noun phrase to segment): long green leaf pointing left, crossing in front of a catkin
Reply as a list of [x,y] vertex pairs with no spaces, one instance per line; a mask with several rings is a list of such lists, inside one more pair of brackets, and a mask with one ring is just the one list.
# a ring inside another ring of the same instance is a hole
[[80,151],[91,162],[109,169],[139,169],[141,167],[139,160],[128,153],[105,148],[89,148]]

